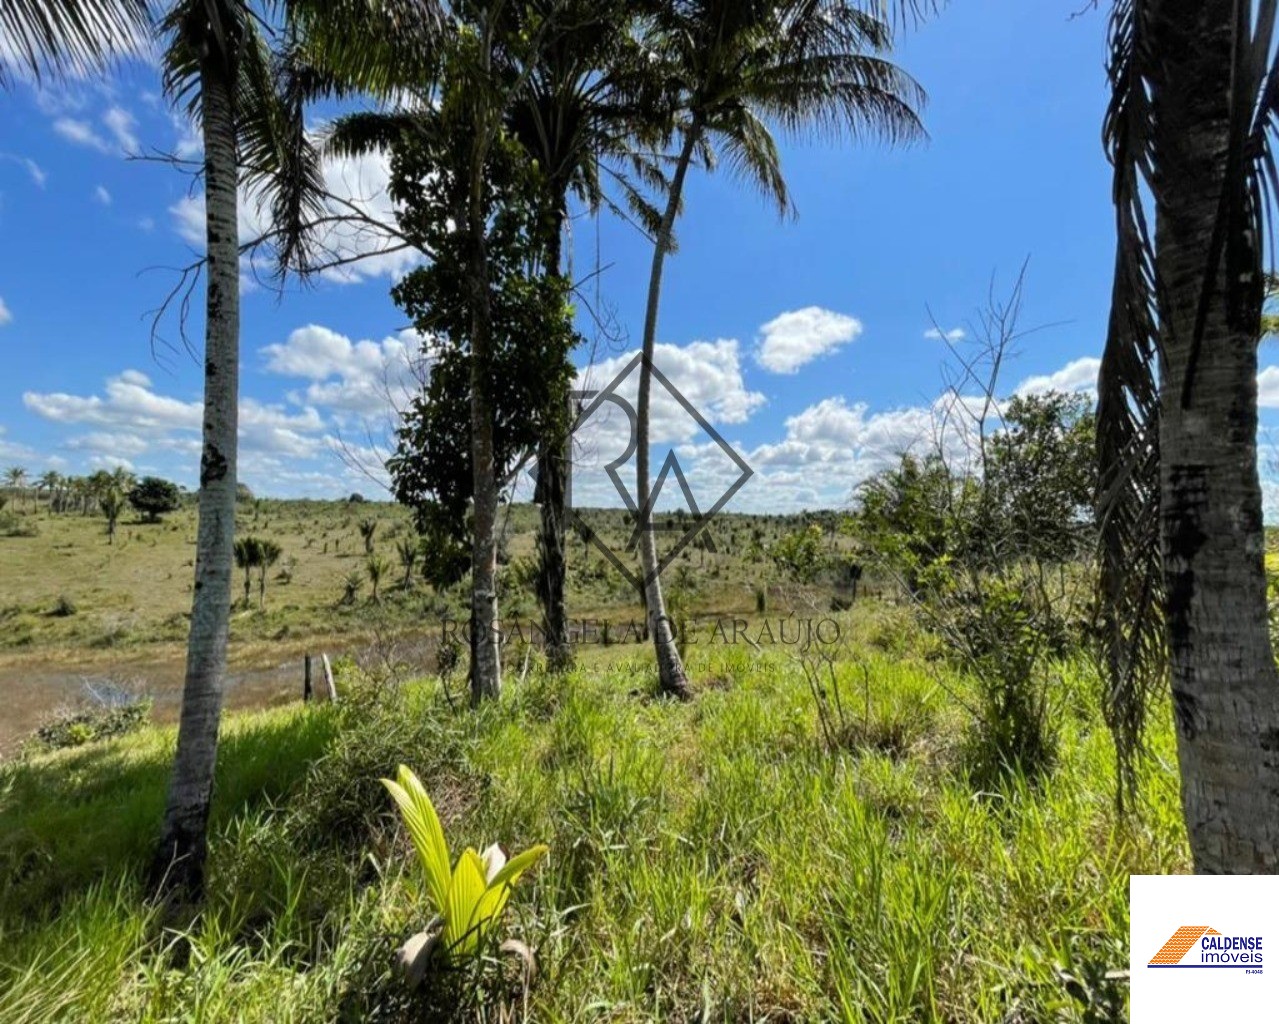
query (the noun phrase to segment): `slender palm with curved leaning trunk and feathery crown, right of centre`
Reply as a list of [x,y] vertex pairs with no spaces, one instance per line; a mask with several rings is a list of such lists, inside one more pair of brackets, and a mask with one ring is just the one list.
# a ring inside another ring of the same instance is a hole
[[694,160],[711,167],[719,153],[785,213],[790,201],[766,120],[797,134],[908,142],[923,134],[916,114],[923,93],[884,58],[891,27],[845,0],[680,0],[663,5],[650,24],[648,43],[669,83],[678,152],[654,242],[641,348],[640,557],[660,685],[686,698],[688,679],[657,578],[648,427],[663,268],[688,170]]

